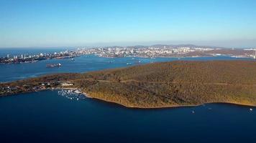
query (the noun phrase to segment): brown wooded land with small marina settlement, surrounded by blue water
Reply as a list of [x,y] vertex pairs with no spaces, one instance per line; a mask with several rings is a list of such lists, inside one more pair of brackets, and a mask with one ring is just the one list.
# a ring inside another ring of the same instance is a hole
[[83,74],[50,74],[1,83],[0,97],[71,88],[125,107],[211,102],[256,106],[256,61],[170,61]]

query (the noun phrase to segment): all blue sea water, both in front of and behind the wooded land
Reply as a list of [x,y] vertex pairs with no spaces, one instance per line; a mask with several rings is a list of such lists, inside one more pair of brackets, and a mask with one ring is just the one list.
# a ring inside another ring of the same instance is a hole
[[[0,53],[2,51],[0,49]],[[27,50],[20,49],[15,54],[23,54],[24,51]],[[58,72],[129,66],[127,63],[136,65],[173,60],[179,59],[88,55],[76,57],[75,61],[52,59],[32,64],[0,64],[0,82]],[[237,59],[217,56],[180,60]],[[46,68],[48,63],[63,66]],[[206,104],[168,109],[128,109],[96,99],[70,100],[60,96],[58,91],[19,94],[0,98],[0,142],[255,142],[256,108],[253,107],[252,112],[250,108]]]

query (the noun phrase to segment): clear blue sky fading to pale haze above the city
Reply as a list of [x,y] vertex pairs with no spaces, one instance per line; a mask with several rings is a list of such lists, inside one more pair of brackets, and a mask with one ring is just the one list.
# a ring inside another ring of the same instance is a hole
[[0,0],[0,47],[256,47],[255,0]]

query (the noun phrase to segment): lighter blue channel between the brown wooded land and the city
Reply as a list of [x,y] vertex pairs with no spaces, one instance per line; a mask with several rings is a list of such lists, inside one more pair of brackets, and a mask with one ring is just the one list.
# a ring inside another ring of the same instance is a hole
[[[152,62],[161,61],[175,61],[175,60],[192,60],[192,61],[206,61],[206,60],[237,60],[237,58],[227,56],[217,57],[193,57],[193,58],[104,58],[93,55],[86,55],[71,59],[50,59],[44,61],[37,61],[35,63],[24,64],[0,64],[0,82],[9,82],[19,79],[26,79],[31,77],[38,77],[44,74],[63,73],[63,72],[87,72],[101,69],[112,69],[125,66],[133,66],[138,64],[149,64]],[[245,60],[245,59],[239,59]],[[140,61],[140,62],[139,62]],[[58,68],[47,68],[46,64],[60,63],[63,66]],[[132,65],[127,65],[132,63]]]

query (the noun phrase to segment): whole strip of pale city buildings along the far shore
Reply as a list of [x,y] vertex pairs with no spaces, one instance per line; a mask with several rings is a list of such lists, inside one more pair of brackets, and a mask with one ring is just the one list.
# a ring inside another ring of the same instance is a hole
[[[85,54],[94,54],[103,57],[125,57],[125,56],[137,56],[137,57],[173,57],[173,56],[209,56],[209,55],[222,55],[227,54],[229,56],[236,57],[252,57],[256,59],[256,49],[239,49],[240,51],[255,51],[255,54],[229,54],[234,49],[229,49],[229,52],[225,53],[221,50],[206,46],[195,45],[153,45],[153,46],[109,46],[109,47],[94,47],[94,48],[78,48],[74,51],[60,51],[53,54],[36,54],[27,55],[21,54],[19,56],[0,57],[0,64],[14,64],[14,63],[27,63],[35,62],[45,59],[65,59],[81,56]],[[227,49],[226,49],[227,51]],[[216,53],[219,52],[219,53]]]

